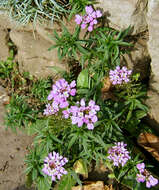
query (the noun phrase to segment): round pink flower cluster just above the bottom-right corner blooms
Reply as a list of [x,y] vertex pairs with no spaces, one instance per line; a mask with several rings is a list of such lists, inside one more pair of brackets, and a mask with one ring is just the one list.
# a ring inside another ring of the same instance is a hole
[[114,166],[124,166],[126,162],[130,159],[129,152],[125,148],[127,144],[123,142],[115,143],[115,146],[111,147],[108,150],[109,156],[107,157],[111,161],[113,161]]

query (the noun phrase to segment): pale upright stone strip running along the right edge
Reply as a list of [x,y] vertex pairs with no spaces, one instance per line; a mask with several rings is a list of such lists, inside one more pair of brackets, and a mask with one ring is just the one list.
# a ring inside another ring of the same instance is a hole
[[159,131],[159,1],[148,1],[148,51],[151,56],[151,77],[149,98],[147,105],[150,107],[148,122]]

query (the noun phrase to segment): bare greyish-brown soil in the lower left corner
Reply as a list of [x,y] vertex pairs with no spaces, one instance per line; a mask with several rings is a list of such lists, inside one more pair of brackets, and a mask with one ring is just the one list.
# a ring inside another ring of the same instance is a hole
[[32,138],[22,131],[14,133],[4,125],[5,89],[0,87],[0,190],[35,190],[25,187],[25,155]]

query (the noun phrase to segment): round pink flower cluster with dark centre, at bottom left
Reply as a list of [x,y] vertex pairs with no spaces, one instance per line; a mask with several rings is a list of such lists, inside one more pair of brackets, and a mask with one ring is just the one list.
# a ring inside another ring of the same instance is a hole
[[67,174],[67,171],[63,168],[67,162],[67,158],[60,156],[59,153],[49,153],[44,160],[42,172],[50,176],[52,181],[56,181],[56,178],[60,180],[62,175]]

